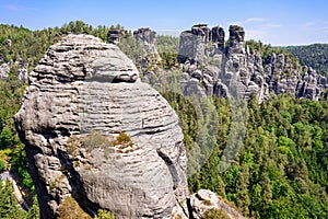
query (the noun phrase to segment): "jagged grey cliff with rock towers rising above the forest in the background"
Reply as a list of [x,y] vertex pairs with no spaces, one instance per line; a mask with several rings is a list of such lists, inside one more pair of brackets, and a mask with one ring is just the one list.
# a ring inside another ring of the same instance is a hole
[[271,54],[266,60],[245,45],[245,31],[230,26],[229,45],[224,31],[206,24],[180,34],[178,60],[181,64],[186,94],[241,96],[255,93],[259,101],[270,93],[318,100],[327,79],[312,68],[296,67],[283,54]]

